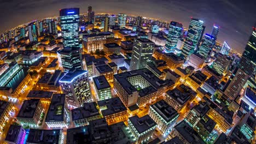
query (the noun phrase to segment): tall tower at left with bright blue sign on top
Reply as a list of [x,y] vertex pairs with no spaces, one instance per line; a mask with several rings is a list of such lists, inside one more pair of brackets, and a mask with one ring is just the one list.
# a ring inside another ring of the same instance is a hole
[[70,47],[79,46],[79,8],[68,8],[60,10],[61,35],[63,45]]

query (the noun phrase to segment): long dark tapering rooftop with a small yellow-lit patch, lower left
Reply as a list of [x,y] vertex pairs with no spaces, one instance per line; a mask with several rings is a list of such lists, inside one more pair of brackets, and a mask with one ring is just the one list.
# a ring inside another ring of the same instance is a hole
[[65,109],[65,94],[54,94],[51,99],[45,122],[63,122]]

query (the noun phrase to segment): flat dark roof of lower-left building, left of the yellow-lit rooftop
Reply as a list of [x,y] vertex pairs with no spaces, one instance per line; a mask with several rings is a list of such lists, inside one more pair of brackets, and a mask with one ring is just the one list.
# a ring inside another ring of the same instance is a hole
[[40,99],[24,100],[24,103],[20,108],[17,118],[33,118],[39,101]]

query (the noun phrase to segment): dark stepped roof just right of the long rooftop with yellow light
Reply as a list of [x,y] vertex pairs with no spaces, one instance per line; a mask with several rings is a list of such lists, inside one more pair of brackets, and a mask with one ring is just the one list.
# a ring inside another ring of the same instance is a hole
[[84,119],[92,116],[100,115],[96,107],[96,102],[84,103],[84,106],[73,109],[72,120],[76,121],[78,119]]

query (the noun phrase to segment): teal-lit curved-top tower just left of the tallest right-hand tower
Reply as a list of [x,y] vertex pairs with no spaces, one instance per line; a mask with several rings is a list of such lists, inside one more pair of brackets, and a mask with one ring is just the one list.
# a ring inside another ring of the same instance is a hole
[[178,40],[182,34],[182,23],[171,21],[166,39],[165,51],[172,52],[177,47]]

